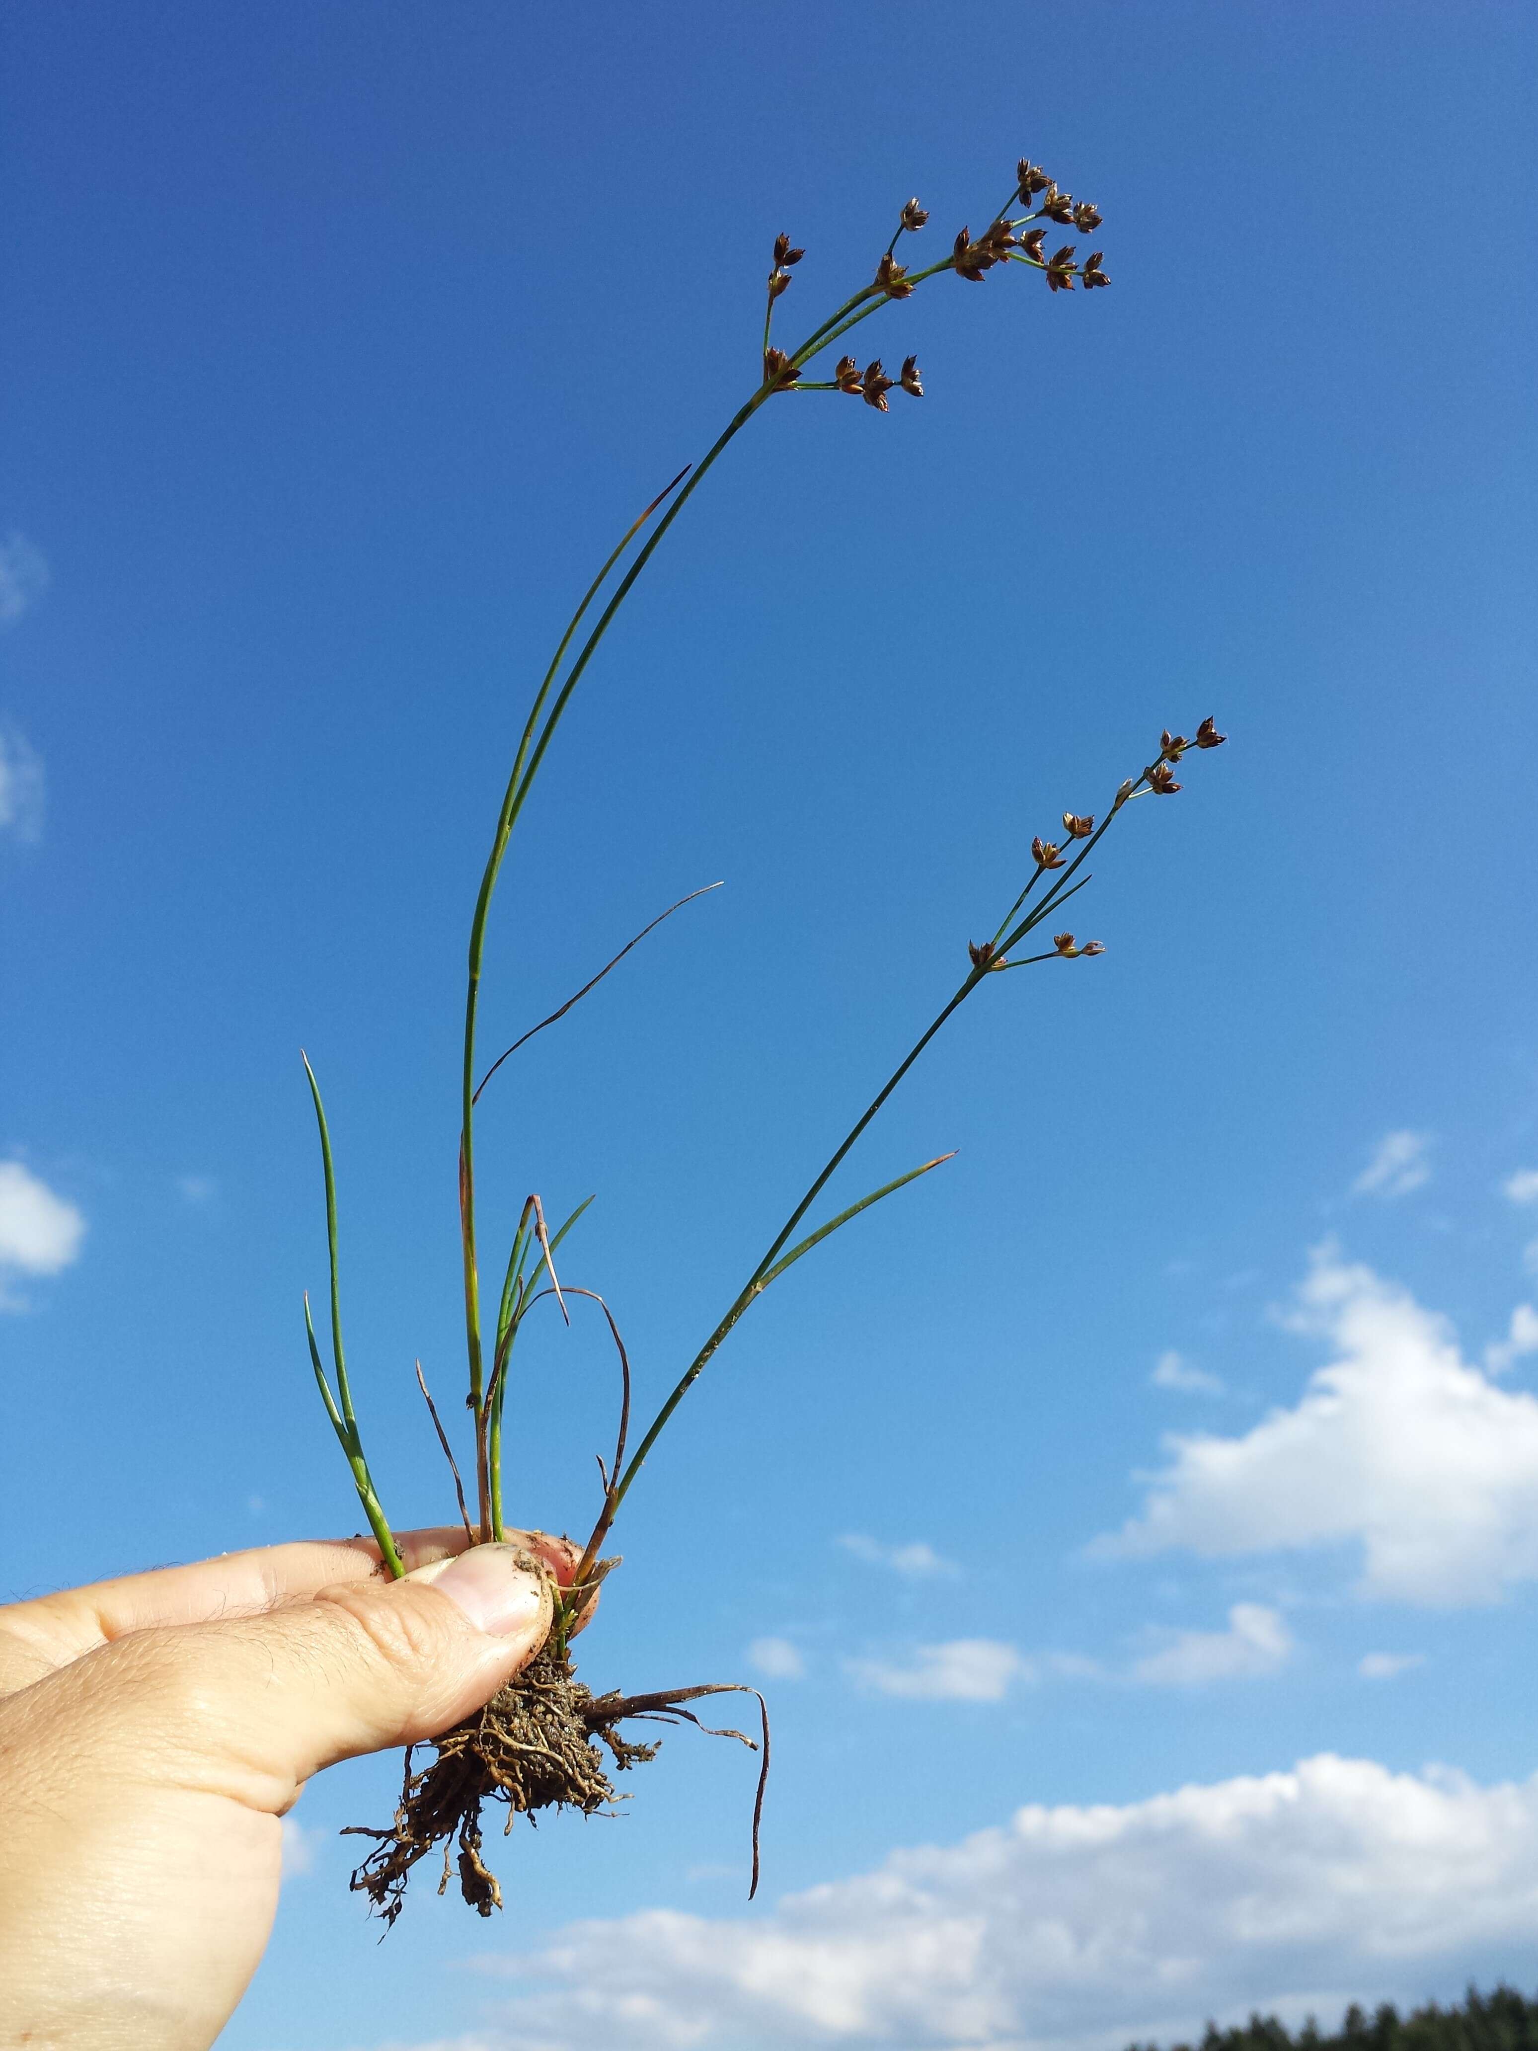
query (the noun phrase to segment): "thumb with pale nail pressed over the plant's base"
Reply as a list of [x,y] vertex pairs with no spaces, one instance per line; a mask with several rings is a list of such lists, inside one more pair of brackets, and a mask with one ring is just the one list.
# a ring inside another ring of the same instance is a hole
[[94,1762],[281,1815],[322,1766],[451,1729],[543,1645],[552,1577],[476,1546],[404,1581],[342,1581],[260,1616],[137,1631],[37,1688]]

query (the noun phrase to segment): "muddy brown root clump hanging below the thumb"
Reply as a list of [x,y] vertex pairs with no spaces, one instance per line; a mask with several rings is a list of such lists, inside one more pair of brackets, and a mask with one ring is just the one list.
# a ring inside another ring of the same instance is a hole
[[[373,1838],[375,1846],[353,1873],[355,1893],[369,1897],[383,1916],[386,1930],[406,1905],[406,1883],[418,1858],[443,1846],[443,1877],[439,1893],[449,1887],[457,1840],[459,1893],[478,1916],[502,1907],[502,1889],[482,1856],[482,1803],[507,1805],[507,1827],[517,1815],[535,1821],[539,1809],[580,1809],[582,1815],[613,1813],[611,1805],[625,1801],[609,1782],[609,1760],[615,1772],[628,1772],[654,1760],[658,1741],[644,1745],[619,1735],[628,1719],[654,1723],[699,1723],[683,1702],[705,1694],[753,1694],[763,1713],[763,1758],[759,1793],[753,1805],[753,1887],[759,1885],[759,1819],[763,1788],[769,1776],[769,1711],[757,1688],[714,1682],[701,1688],[666,1688],[656,1694],[625,1696],[617,1690],[595,1696],[572,1674],[570,1655],[545,1643],[533,1661],[517,1674],[492,1700],[435,1737],[437,1758],[420,1772],[412,1770],[406,1750],[406,1770],[400,1807],[390,1829],[353,1825],[345,1838]],[[742,1731],[710,1731],[712,1737],[736,1737],[751,1752],[759,1743]],[[607,1750],[609,1760],[599,1752]]]

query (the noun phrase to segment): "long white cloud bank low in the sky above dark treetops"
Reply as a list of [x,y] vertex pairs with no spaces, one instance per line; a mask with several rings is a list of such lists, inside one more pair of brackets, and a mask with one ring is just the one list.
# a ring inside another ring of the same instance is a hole
[[1370,1760],[1027,1807],[755,1916],[646,1909],[484,1959],[486,2051],[1122,2051],[1251,2008],[1522,1981],[1538,1778]]

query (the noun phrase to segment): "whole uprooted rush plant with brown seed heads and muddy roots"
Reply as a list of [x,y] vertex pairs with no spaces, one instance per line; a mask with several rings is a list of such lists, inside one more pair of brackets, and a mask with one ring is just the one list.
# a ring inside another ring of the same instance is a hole
[[[982,234],[972,236],[962,228],[952,248],[937,263],[913,269],[898,263],[898,248],[906,248],[906,236],[917,236],[927,211],[910,199],[898,213],[892,240],[882,250],[874,277],[859,285],[841,306],[820,320],[810,334],[794,349],[779,347],[773,338],[775,308],[790,291],[796,265],[804,250],[792,248],[790,236],[777,236],[767,281],[763,351],[759,373],[742,404],[720,431],[697,464],[681,470],[677,478],[646,507],[619,537],[599,574],[584,591],[566,632],[556,646],[550,667],[533,693],[533,703],[519,740],[513,769],[507,779],[502,804],[492,833],[490,853],[476,892],[476,907],[470,921],[468,980],[463,1011],[463,1064],[461,1064],[461,1124],[459,1124],[459,1235],[463,1247],[463,1313],[466,1313],[466,1356],[468,1356],[468,1399],[474,1432],[474,1512],[466,1499],[459,1469],[453,1458],[449,1436],[439,1419],[427,1384],[433,1425],[443,1452],[453,1469],[459,1514],[472,1544],[504,1540],[509,1524],[502,1495],[502,1413],[513,1376],[513,1360],[525,1319],[537,1304],[554,1302],[560,1315],[570,1321],[570,1300],[597,1304],[613,1339],[619,1378],[621,1405],[615,1450],[611,1462],[599,1460],[601,1499],[593,1530],[582,1546],[574,1573],[556,1590],[556,1624],[545,1649],[537,1659],[511,1682],[482,1713],[468,1719],[453,1731],[445,1731],[435,1741],[435,1760],[416,1772],[412,1754],[406,1754],[404,1786],[400,1809],[390,1829],[365,1832],[373,1838],[373,1850],[353,1875],[353,1887],[369,1895],[388,1922],[400,1914],[408,1875],[418,1858],[443,1846],[443,1885],[449,1881],[453,1844],[457,1840],[459,1883],[466,1901],[480,1914],[490,1914],[500,1903],[500,1889],[482,1856],[480,1815],[482,1803],[502,1801],[509,1809],[509,1827],[517,1813],[533,1813],[543,1807],[576,1807],[593,1813],[615,1799],[607,1778],[609,1762],[623,1770],[654,1756],[656,1745],[634,1743],[619,1735],[619,1725],[630,1719],[685,1719],[695,1723],[695,1715],[683,1704],[699,1696],[730,1692],[724,1684],[699,1688],[673,1688],[652,1694],[603,1694],[593,1696],[572,1674],[570,1639],[584,1620],[605,1573],[615,1565],[603,1557],[603,1549],[623,1510],[630,1491],[656,1448],[669,1419],[710,1366],[718,1348],[732,1329],[753,1309],[767,1288],[781,1280],[804,1255],[822,1245],[861,1212],[884,1202],[898,1190],[927,1175],[947,1161],[923,1161],[894,1181],[822,1216],[814,1222],[818,1204],[833,1183],[847,1157],[857,1147],[861,1134],[878,1116],[886,1099],[919,1060],[931,1040],[945,1023],[974,999],[984,987],[999,984],[1003,974],[1015,968],[1036,968],[1044,964],[1083,962],[1101,954],[1097,939],[1079,941],[1062,925],[1062,913],[1072,896],[1089,882],[1085,861],[1101,843],[1118,818],[1140,798],[1169,798],[1181,786],[1175,769],[1187,751],[1208,751],[1222,742],[1210,718],[1204,718],[1193,736],[1163,732],[1152,759],[1134,775],[1126,777],[1109,798],[1105,810],[1097,814],[1064,812],[1062,827],[1052,837],[1036,837],[1029,845],[1029,859],[1023,859],[1023,882],[1009,909],[993,925],[990,937],[968,941],[968,966],[956,989],[943,997],[935,1017],[917,1036],[908,1052],[886,1077],[872,1101],[853,1120],[839,1144],[831,1151],[822,1167],[810,1179],[806,1192],[792,1206],[779,1231],[769,1239],[763,1255],[742,1280],[742,1286],[726,1304],[693,1360],[687,1362],[673,1382],[656,1413],[650,1417],[640,1438],[632,1446],[632,1372],[619,1325],[609,1304],[593,1290],[576,1288],[558,1276],[556,1255],[566,1237],[576,1226],[586,1204],[578,1206],[554,1231],[545,1220],[545,1210],[537,1194],[531,1194],[519,1212],[511,1233],[507,1261],[500,1263],[500,1284],[494,1296],[482,1286],[482,1220],[476,1192],[476,1108],[496,1073],[535,1032],[554,1026],[578,1003],[630,950],[671,917],[689,898],[669,907],[660,919],[636,935],[621,952],[599,970],[566,1005],[543,1019],[529,1034],[500,1052],[482,1069],[478,1050],[480,984],[486,960],[486,935],[496,884],[513,847],[529,792],[545,765],[550,747],[572,695],[586,675],[593,656],[609,632],[615,613],[630,597],[652,554],[662,544],[673,523],[689,505],[693,494],[710,476],[732,441],[753,423],[765,406],[779,406],[798,394],[835,394],[863,400],[874,412],[890,412],[888,394],[902,392],[908,398],[923,398],[923,379],[915,355],[902,359],[896,377],[890,377],[882,359],[867,363],[849,353],[847,338],[865,320],[886,314],[896,301],[910,299],[921,287],[935,279],[962,279],[982,283],[993,271],[1005,267],[1034,273],[1056,299],[1060,293],[1081,289],[1091,293],[1109,283],[1099,250],[1077,252],[1075,242],[1064,242],[1052,254],[1046,244],[1058,228],[1077,230],[1091,236],[1101,215],[1089,201],[1075,201],[1070,193],[1056,187],[1040,164],[1021,158],[1015,170],[1005,205],[988,219]],[[597,609],[597,613],[595,613]],[[589,617],[591,619],[589,626]],[[586,626],[586,632],[584,632]],[[714,886],[710,886],[714,888]],[[701,892],[691,892],[699,896]],[[1058,931],[1048,933],[1048,927]],[[342,1446],[353,1483],[363,1503],[363,1514],[379,1542],[379,1553],[390,1573],[404,1573],[400,1549],[390,1520],[379,1501],[363,1436],[359,1432],[353,1405],[353,1386],[342,1350],[342,1315],[336,1280],[336,1175],[332,1165],[330,1134],[320,1085],[306,1058],[306,1075],[314,1097],[316,1124],[320,1130],[320,1157],[326,1185],[326,1235],[330,1249],[330,1370],[322,1360],[316,1337],[310,1300],[306,1296],[306,1337],[310,1360],[316,1372],[326,1413]],[[494,1311],[490,1309],[494,1302]],[[420,1366],[416,1370],[418,1382]],[[726,1735],[726,1733],[724,1733]],[[730,1733],[742,1737],[742,1733]],[[742,1739],[748,1743],[748,1739]],[[609,1760],[597,1750],[607,1747]],[[759,1776],[759,1801],[755,1805],[755,1852],[753,1885],[759,1877],[757,1821],[763,1803],[763,1772],[769,1762],[769,1723],[763,1715],[763,1760]],[[439,1889],[441,1891],[441,1889]]]

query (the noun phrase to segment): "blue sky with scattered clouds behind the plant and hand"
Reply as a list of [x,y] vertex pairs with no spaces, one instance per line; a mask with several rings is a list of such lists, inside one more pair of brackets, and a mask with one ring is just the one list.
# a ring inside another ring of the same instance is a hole
[[[742,1758],[675,1737],[623,1821],[502,1848],[496,1928],[424,1893],[375,1946],[359,1764],[236,2051],[1111,2047],[1532,1983],[1534,47],[1495,4],[12,10],[6,1590],[355,1528],[301,1044],[386,1503],[449,1514],[410,1362],[457,1378],[474,882],[570,603],[753,386],[775,232],[806,326],[1025,150],[1114,287],[886,310],[925,400],[767,408],[562,728],[488,1042],[726,880],[480,1142],[502,1229],[599,1194],[568,1274],[644,1391],[1031,835],[1232,736],[1103,843],[1103,960],[988,984],[839,1188],[958,1159],[636,1489],[584,1670],[771,1676],[759,1903]],[[576,1528],[611,1364],[527,1372],[511,1501]]]

